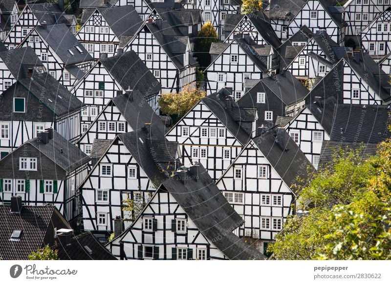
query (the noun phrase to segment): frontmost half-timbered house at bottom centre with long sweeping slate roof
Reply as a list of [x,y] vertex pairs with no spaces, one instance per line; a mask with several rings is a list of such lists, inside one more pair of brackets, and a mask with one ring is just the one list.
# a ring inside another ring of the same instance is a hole
[[106,247],[119,259],[265,259],[232,232],[242,223],[195,164],[163,182],[135,222]]

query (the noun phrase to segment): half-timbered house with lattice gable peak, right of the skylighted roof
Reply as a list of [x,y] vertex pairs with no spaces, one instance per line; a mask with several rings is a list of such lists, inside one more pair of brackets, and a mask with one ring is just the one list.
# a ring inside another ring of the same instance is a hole
[[109,57],[115,55],[121,38],[129,41],[141,24],[140,16],[131,5],[97,8],[84,22],[76,38],[98,60],[104,53]]

